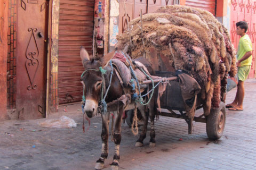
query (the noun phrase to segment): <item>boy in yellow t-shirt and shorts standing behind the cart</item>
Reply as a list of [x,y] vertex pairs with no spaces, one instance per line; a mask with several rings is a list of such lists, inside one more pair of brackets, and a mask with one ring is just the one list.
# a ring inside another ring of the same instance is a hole
[[247,78],[252,64],[252,42],[246,34],[247,29],[248,25],[246,22],[240,21],[236,23],[236,34],[241,36],[236,55],[238,84],[234,101],[226,105],[226,108],[229,108],[230,111],[243,111],[244,80]]

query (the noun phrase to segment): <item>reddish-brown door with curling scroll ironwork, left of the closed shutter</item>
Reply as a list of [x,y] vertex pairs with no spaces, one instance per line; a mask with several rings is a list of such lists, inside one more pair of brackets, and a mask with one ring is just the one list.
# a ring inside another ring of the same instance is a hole
[[49,1],[21,0],[17,22],[17,112],[20,120],[45,117]]

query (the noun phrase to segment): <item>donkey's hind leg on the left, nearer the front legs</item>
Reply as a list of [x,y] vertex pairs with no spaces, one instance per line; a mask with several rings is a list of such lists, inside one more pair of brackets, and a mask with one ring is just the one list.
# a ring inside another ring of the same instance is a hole
[[143,146],[143,140],[146,138],[146,133],[147,133],[148,112],[146,112],[146,106],[143,106],[143,105],[139,106],[138,109],[139,109],[140,114],[143,118],[143,129],[140,132],[139,139],[135,143],[135,147],[142,147]]

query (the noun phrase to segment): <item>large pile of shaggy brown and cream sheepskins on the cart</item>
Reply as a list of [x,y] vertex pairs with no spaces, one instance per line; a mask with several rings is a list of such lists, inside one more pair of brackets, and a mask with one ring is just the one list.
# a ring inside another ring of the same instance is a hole
[[235,50],[228,30],[205,10],[172,5],[130,22],[130,31],[117,36],[117,47],[132,58],[145,56],[154,47],[175,70],[185,70],[202,88],[204,113],[225,102],[228,74],[237,72]]

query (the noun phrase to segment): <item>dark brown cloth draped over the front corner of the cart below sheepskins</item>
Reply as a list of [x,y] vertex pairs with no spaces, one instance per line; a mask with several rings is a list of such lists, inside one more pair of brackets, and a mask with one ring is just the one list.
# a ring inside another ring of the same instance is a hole
[[175,72],[180,83],[181,96],[188,117],[194,117],[196,107],[196,95],[201,91],[197,81],[189,73],[178,70]]

